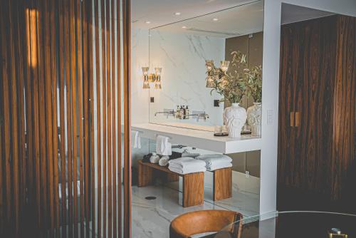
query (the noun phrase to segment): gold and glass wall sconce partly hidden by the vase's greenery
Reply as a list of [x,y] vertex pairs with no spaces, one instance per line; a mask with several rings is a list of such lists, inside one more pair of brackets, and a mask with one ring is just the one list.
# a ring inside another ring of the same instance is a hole
[[214,61],[205,61],[206,66],[206,88],[215,88],[216,82],[223,81],[228,71],[230,61],[220,61],[220,68],[214,66]]

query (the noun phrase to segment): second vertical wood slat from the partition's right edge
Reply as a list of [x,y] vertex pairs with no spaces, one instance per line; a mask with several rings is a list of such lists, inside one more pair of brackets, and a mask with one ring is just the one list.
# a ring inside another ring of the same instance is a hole
[[117,204],[118,204],[118,209],[117,209],[117,222],[118,222],[118,233],[119,237],[122,237],[122,194],[121,194],[121,37],[120,37],[120,32],[121,32],[121,23],[120,23],[120,1],[117,1],[116,3],[116,19],[117,19],[117,135],[118,135],[118,151],[117,151],[117,168],[118,168],[118,173],[117,173]]

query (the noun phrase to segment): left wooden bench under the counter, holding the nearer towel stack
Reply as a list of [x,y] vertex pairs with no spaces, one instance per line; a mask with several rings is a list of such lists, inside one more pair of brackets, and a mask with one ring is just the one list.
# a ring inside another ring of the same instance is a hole
[[183,207],[203,204],[204,172],[181,175],[177,172],[172,172],[168,167],[138,160],[138,187],[152,185],[157,176],[166,176],[165,181],[167,182],[177,181],[179,177],[183,177]]

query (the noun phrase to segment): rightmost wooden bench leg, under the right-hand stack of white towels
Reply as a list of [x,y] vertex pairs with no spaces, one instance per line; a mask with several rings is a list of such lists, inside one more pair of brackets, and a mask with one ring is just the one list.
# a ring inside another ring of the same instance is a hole
[[213,172],[213,200],[223,200],[232,197],[232,169],[226,167]]

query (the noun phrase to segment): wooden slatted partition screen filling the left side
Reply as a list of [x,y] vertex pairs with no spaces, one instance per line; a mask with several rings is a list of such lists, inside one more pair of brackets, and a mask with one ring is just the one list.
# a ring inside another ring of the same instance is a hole
[[130,1],[1,1],[0,61],[0,237],[130,237]]

